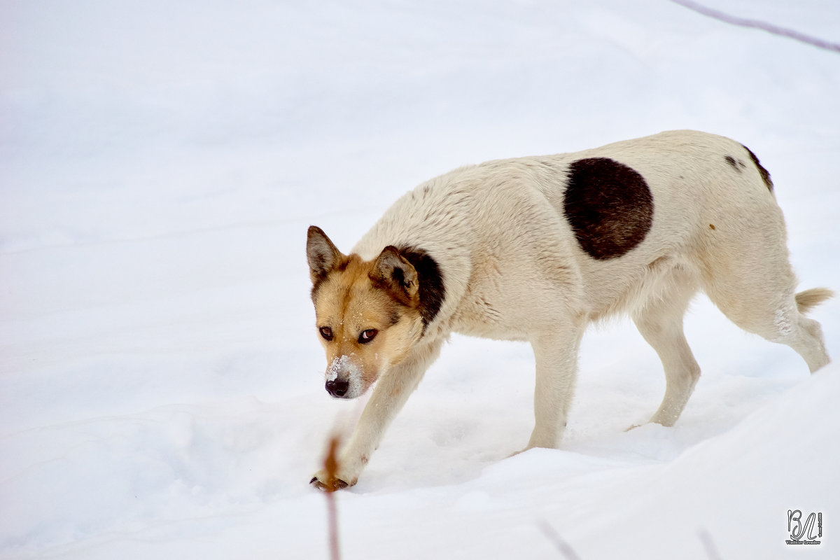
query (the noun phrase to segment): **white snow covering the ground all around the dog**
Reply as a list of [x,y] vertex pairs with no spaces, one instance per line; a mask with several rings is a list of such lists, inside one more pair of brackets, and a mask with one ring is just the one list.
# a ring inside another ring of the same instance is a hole
[[[840,7],[706,3],[823,39]],[[674,3],[9,2],[0,8],[0,557],[328,556],[303,248],[456,166],[672,128],[773,175],[802,287],[840,289],[840,57]],[[840,303],[812,312],[840,355]],[[347,558],[837,557],[840,368],[699,297],[701,381],[587,334],[558,450],[527,345],[454,336],[359,484]],[[823,514],[792,547],[788,510]]]

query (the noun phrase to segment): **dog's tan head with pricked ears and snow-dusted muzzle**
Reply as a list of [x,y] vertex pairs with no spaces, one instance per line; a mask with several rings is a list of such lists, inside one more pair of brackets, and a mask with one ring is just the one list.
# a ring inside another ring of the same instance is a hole
[[391,246],[368,261],[344,255],[315,226],[307,234],[307,259],[318,338],[327,352],[326,389],[354,399],[423,337],[417,270]]

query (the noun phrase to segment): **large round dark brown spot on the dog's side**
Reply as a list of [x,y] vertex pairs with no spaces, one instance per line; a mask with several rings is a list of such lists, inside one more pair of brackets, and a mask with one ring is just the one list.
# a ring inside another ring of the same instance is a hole
[[586,254],[614,259],[642,243],[654,222],[654,196],[638,171],[608,158],[569,166],[566,219]]

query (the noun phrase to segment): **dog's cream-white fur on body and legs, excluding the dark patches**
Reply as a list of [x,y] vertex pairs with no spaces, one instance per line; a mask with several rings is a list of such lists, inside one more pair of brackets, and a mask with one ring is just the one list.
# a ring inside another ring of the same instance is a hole
[[[727,155],[746,165],[727,165]],[[592,157],[638,171],[653,194],[652,228],[614,259],[580,249],[564,217],[568,167]],[[339,478],[349,484],[449,332],[532,344],[536,421],[528,447],[557,445],[585,327],[619,312],[632,315],[662,360],[667,387],[651,421],[666,426],[700,376],[682,330],[698,290],[738,326],[794,348],[811,371],[828,362],[819,324],[797,310],[780,208],[748,151],[719,136],[675,131],[463,167],[402,196],[354,252],[375,259],[387,245],[432,255],[446,294],[420,343],[375,385],[340,457]]]

